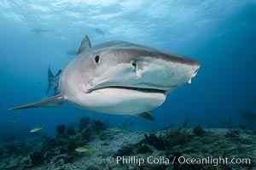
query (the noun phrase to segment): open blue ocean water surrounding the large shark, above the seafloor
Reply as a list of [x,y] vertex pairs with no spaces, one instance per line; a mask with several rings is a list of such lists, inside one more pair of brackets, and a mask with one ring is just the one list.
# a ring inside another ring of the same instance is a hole
[[[255,112],[255,1],[0,1],[0,134],[26,135],[86,115],[113,126],[153,130],[189,119],[189,126],[227,127]],[[37,33],[36,30],[41,30]],[[170,50],[201,62],[192,80],[152,111],[155,121],[83,111],[71,105],[7,111],[44,99],[49,64],[56,73],[87,34],[92,45],[111,40]],[[69,52],[69,53],[68,53]]]

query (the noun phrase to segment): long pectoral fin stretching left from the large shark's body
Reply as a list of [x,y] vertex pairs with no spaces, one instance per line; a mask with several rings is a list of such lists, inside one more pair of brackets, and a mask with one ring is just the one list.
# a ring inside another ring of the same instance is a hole
[[47,99],[42,99],[42,100],[30,103],[30,104],[13,107],[8,109],[8,111],[28,109],[33,107],[58,107],[63,105],[65,101],[66,100],[64,99],[64,97],[61,94],[59,94]]

